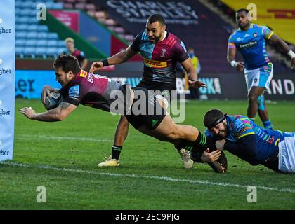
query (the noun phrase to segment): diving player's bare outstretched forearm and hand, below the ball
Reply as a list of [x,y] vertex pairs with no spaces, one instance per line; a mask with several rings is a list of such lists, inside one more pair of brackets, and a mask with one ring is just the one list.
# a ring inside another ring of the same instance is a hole
[[18,110],[20,111],[20,113],[24,114],[27,118],[31,120],[53,122],[64,120],[76,108],[77,106],[74,104],[61,102],[58,107],[44,113],[36,113],[36,111],[34,111],[31,107],[24,107]]

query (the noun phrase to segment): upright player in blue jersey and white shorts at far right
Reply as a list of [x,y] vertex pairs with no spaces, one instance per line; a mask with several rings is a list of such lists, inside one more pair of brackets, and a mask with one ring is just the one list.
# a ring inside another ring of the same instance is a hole
[[[271,41],[286,52],[291,57],[291,66],[295,65],[295,54],[268,27],[251,23],[247,9],[237,10],[236,22],[240,28],[228,40],[228,62],[238,71],[244,71],[249,101],[247,116],[254,121],[258,111],[264,127],[272,128],[263,95],[273,78],[273,64],[268,58],[265,41]],[[241,52],[244,62],[235,61],[236,50]]]

